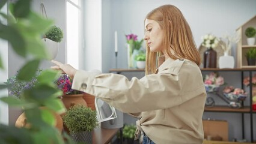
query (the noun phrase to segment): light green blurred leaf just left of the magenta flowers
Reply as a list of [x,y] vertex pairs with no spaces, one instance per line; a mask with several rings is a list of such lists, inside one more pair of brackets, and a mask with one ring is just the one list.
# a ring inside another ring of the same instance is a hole
[[51,83],[58,78],[59,74],[59,71],[56,70],[44,70],[37,77],[37,80],[40,83]]

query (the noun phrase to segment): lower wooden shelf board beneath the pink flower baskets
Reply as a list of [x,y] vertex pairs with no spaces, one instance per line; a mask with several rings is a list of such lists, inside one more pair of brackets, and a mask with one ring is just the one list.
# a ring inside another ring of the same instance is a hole
[[249,107],[242,107],[240,109],[234,109],[228,106],[213,106],[205,107],[204,112],[239,112],[239,113],[249,113]]

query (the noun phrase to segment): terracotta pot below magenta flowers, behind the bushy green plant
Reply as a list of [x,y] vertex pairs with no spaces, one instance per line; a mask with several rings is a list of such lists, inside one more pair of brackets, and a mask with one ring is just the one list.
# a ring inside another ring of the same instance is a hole
[[87,106],[87,102],[85,102],[83,96],[83,94],[63,95],[62,102],[66,109],[69,109],[69,107],[75,106],[76,104]]

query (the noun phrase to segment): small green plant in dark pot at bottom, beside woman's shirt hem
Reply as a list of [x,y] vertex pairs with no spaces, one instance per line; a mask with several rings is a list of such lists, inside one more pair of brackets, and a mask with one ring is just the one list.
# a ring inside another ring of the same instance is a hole
[[130,124],[130,125],[124,125],[123,128],[123,138],[124,138],[124,143],[133,143],[134,141],[134,134],[136,131],[136,125]]

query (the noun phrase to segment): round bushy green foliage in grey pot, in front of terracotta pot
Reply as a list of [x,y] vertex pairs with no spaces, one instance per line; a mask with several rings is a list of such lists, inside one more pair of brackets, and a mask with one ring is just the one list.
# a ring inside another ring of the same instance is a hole
[[96,110],[82,104],[70,107],[62,119],[71,133],[91,132],[99,125]]

